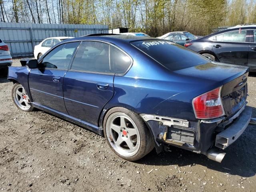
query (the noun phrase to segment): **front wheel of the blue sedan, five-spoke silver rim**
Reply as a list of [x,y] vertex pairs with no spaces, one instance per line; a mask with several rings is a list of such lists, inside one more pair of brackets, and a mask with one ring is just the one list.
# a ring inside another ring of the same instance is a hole
[[12,99],[14,104],[23,111],[32,111],[34,108],[29,104],[30,99],[25,92],[24,87],[15,83],[12,87]]

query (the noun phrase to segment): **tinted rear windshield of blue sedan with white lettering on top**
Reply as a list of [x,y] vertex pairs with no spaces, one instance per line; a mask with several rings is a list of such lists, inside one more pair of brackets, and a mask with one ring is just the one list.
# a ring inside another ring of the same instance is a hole
[[204,56],[166,40],[142,40],[131,44],[171,71],[209,62]]

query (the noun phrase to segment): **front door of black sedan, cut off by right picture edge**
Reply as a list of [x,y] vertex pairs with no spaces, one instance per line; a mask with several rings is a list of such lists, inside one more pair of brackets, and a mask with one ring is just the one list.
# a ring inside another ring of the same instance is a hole
[[248,55],[248,66],[251,70],[256,70],[256,30],[250,30],[250,44],[249,44],[249,55]]

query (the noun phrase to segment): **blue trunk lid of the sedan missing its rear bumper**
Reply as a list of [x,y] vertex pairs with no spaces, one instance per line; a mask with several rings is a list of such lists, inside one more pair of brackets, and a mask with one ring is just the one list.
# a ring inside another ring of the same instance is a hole
[[201,94],[222,86],[222,104],[227,117],[235,114],[246,102],[249,73],[246,66],[209,62],[174,73],[190,76],[193,82],[200,84]]

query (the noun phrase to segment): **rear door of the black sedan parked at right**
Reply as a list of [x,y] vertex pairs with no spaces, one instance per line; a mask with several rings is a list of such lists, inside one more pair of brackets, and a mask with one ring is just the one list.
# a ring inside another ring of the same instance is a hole
[[212,50],[220,62],[247,65],[249,34],[246,30],[226,32],[213,37]]

